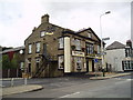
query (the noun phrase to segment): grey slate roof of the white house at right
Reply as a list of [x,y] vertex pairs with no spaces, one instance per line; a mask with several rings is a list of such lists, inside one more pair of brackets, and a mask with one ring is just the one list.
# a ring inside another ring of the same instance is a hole
[[113,50],[113,49],[124,49],[125,44],[119,42],[119,41],[114,41],[112,44],[106,47],[106,50]]

